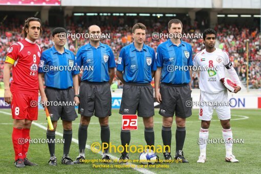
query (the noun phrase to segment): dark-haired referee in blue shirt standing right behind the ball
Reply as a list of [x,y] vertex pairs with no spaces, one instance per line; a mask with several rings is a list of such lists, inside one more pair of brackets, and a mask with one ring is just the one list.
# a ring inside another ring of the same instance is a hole
[[[120,51],[117,76],[124,86],[119,113],[135,115],[138,112],[138,116],[143,118],[145,141],[148,146],[153,146],[154,97],[150,82],[157,67],[153,48],[144,44],[145,36],[146,27],[141,23],[135,24],[132,29],[133,44],[123,47]],[[122,129],[121,145],[124,151],[121,153],[120,163],[129,160],[127,148],[129,143],[130,131]]]

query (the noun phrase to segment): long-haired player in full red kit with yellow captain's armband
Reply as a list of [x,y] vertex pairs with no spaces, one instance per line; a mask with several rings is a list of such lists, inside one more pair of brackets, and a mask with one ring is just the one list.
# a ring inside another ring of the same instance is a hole
[[[30,17],[25,21],[25,39],[13,44],[7,54],[4,67],[5,102],[11,103],[13,117],[13,146],[15,166],[36,165],[27,159],[30,127],[38,116],[38,64],[40,47],[35,44],[41,33],[41,20]],[[13,80],[9,87],[10,70]]]

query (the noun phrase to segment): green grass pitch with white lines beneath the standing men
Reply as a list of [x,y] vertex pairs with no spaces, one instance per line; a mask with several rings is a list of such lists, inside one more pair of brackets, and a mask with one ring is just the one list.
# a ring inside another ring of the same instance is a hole
[[[14,151],[12,145],[12,117],[9,114],[10,110],[0,110],[0,134],[1,134],[1,153],[2,167],[0,172],[3,173],[140,173],[133,168],[94,168],[92,163],[85,163],[80,165],[66,166],[60,163],[63,144],[56,144],[55,154],[58,160],[57,166],[49,166],[49,150],[47,144],[30,144],[28,158],[29,160],[37,163],[39,166],[16,168],[14,162]],[[111,129],[111,142],[113,145],[120,145],[120,129],[121,129],[121,115],[118,110],[112,111],[113,115],[110,117]],[[233,154],[240,161],[239,163],[225,162],[225,145],[224,144],[208,144],[207,145],[207,161],[204,164],[198,164],[199,145],[197,139],[199,137],[200,121],[198,120],[198,110],[192,110],[192,116],[187,119],[186,123],[186,140],[184,145],[184,157],[189,160],[188,164],[170,163],[166,164],[168,168],[145,168],[145,171],[153,173],[258,173],[260,172],[260,123],[261,123],[261,110],[232,110],[231,111],[231,128],[234,139],[244,139],[244,143],[233,145]],[[73,122],[73,138],[78,140],[78,125],[79,118]],[[213,121],[209,128],[210,139],[222,138],[222,127],[220,121],[217,120],[216,114],[213,115]],[[155,109],[154,116],[154,131],[155,131],[155,145],[162,145],[161,127],[162,118],[158,114],[158,109]],[[38,121],[43,126],[47,126],[46,116],[43,109],[39,110]],[[58,121],[56,132],[62,133],[61,121]],[[172,151],[175,150],[175,132],[176,125],[172,126]],[[46,130],[32,125],[31,127],[32,139],[46,138]],[[138,130],[131,131],[130,145],[145,145],[144,140],[144,126],[142,119],[138,119]],[[57,139],[62,137],[56,135]],[[100,142],[100,126],[98,119],[92,117],[91,124],[88,127],[88,140],[87,144],[91,145],[93,142]],[[112,153],[115,157],[120,157],[119,153]],[[160,159],[163,159],[162,154],[158,154]],[[70,157],[75,160],[78,156],[78,144],[72,142]],[[129,154],[130,159],[138,159],[139,153]],[[172,157],[174,153],[172,154]],[[85,159],[101,158],[100,154],[93,153],[91,150],[86,149]],[[101,162],[95,163],[97,165],[103,164]],[[138,162],[133,162],[142,168]],[[113,163],[112,165],[117,165]],[[158,164],[157,164],[158,165]],[[157,166],[155,165],[155,166]],[[143,168],[144,169],[144,168]]]

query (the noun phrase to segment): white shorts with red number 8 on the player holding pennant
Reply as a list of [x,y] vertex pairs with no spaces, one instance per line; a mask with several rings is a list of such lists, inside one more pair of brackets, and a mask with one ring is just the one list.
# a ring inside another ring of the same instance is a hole
[[200,103],[204,103],[200,106],[200,120],[210,121],[212,119],[214,108],[217,113],[217,117],[220,120],[228,120],[231,118],[227,90],[221,91],[217,94],[209,94],[201,91]]

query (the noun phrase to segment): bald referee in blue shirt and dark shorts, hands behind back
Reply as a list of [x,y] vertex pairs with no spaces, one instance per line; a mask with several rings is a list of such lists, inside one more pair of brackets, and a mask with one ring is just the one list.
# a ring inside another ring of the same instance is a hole
[[[115,58],[112,49],[100,42],[102,36],[99,26],[88,28],[90,43],[82,46],[76,54],[78,67],[83,70],[80,84],[79,114],[81,121],[78,131],[79,156],[75,164],[84,162],[87,128],[91,117],[99,118],[101,142],[110,144],[110,127],[108,117],[112,115],[112,94],[110,85],[115,75]],[[108,148],[103,151],[104,163],[112,162],[107,156]]]

